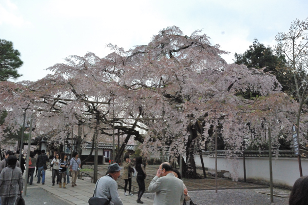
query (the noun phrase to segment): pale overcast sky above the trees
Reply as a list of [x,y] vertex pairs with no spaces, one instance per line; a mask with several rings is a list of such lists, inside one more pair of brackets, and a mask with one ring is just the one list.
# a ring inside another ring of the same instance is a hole
[[308,17],[306,0],[77,1],[0,0],[0,39],[22,54],[20,80],[43,78],[46,68],[70,55],[93,52],[100,57],[112,43],[129,49],[148,44],[152,35],[178,26],[185,35],[197,29],[229,51],[233,62],[254,38],[273,46],[278,32]]

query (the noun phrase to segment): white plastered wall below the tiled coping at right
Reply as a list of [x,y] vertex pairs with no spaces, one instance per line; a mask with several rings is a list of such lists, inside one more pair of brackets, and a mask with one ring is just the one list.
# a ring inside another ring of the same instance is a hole
[[[185,160],[185,157],[184,157]],[[243,158],[239,157],[237,167],[238,176],[244,178]],[[196,166],[201,167],[200,155],[195,155]],[[215,157],[213,155],[203,156],[204,167],[209,171],[215,170]],[[269,182],[269,160],[266,157],[246,157],[246,178],[248,181]],[[301,158],[303,176],[308,175],[308,159]],[[276,186],[292,187],[299,176],[298,159],[296,157],[279,157],[272,160],[273,182]],[[218,171],[226,170],[235,174],[232,170],[232,160],[225,157],[217,157]]]

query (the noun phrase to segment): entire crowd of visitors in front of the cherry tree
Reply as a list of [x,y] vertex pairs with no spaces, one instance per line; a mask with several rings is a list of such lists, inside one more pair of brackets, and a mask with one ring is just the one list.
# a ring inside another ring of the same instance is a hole
[[[22,156],[21,162],[18,157],[21,153],[7,151],[4,153],[4,158],[0,161],[0,205],[14,205],[18,195],[23,193],[23,173],[25,168],[25,158]],[[28,156],[27,156],[28,157]],[[33,175],[36,173],[37,183],[42,185],[45,183],[45,172],[47,169],[48,156],[45,150],[34,151],[29,153],[29,171],[28,181],[32,185]],[[68,155],[65,153],[55,154],[51,160],[50,167],[52,167],[52,186],[55,183],[59,184],[59,188],[66,187],[69,183],[68,170],[72,173],[72,187],[76,185],[76,178],[78,171],[81,168],[81,160],[79,154],[75,152],[73,157],[69,160]],[[133,167],[135,169],[133,169]],[[93,197],[105,200],[104,204],[122,205],[123,202],[120,198],[118,191],[118,184],[116,180],[121,176],[125,181],[124,196],[133,196],[131,192],[131,180],[133,172],[137,171],[137,183],[139,186],[137,203],[143,203],[141,197],[145,192],[145,178],[146,178],[146,165],[143,163],[142,157],[130,159],[129,156],[124,157],[123,168],[118,163],[109,165],[108,171],[105,176],[101,177],[95,186]],[[190,201],[188,190],[181,180],[181,174],[177,169],[172,169],[168,162],[164,162],[159,166],[156,176],[151,180],[148,187],[148,192],[155,193],[153,205],[161,204],[185,204]],[[63,182],[62,182],[63,179]],[[127,194],[128,186],[128,194]],[[290,205],[304,205],[308,204],[308,176],[303,176],[296,180],[294,183],[290,198]]]

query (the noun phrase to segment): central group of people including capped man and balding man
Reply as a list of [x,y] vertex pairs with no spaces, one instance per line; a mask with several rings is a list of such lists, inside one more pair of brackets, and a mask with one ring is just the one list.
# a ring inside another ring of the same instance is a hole
[[[146,166],[142,163],[142,157],[136,159],[130,159],[129,156],[124,157],[123,168],[118,163],[109,165],[106,176],[100,178],[97,181],[97,185],[94,191],[93,197],[105,199],[109,204],[112,201],[114,205],[122,205],[123,202],[118,193],[118,184],[116,180],[120,176],[122,169],[122,179],[125,181],[124,196],[132,196],[131,193],[131,179],[132,179],[132,167],[137,171],[137,183],[139,186],[137,203],[143,203],[141,197],[145,192],[145,178],[146,178]],[[128,194],[127,194],[127,185]],[[183,204],[184,201],[189,201],[187,188],[181,180],[181,174],[177,169],[172,169],[172,166],[168,162],[164,162],[160,165],[156,176],[152,179],[148,192],[156,193],[154,204]]]

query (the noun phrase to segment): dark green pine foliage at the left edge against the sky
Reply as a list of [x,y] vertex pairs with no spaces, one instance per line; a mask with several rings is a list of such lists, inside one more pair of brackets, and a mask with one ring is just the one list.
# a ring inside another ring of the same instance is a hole
[[0,81],[5,81],[9,78],[16,79],[22,76],[16,70],[24,63],[20,56],[21,53],[14,50],[12,42],[0,39]]

